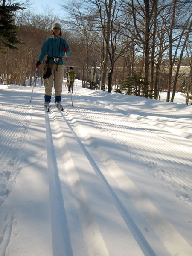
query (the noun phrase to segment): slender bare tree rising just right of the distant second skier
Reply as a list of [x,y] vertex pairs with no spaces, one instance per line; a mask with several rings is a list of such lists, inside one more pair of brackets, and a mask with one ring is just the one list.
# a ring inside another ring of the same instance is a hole
[[[62,7],[67,9],[70,16],[69,19],[62,21],[64,21],[65,27],[67,24],[67,29],[71,32],[71,43],[76,44],[76,51],[74,49],[73,53],[76,54],[81,67],[82,85],[87,88],[90,70],[95,66],[94,60],[98,63],[95,57],[100,51],[98,47],[100,37],[94,26],[96,14],[77,1],[70,3],[70,6],[62,5]],[[75,41],[74,38],[76,38]]]

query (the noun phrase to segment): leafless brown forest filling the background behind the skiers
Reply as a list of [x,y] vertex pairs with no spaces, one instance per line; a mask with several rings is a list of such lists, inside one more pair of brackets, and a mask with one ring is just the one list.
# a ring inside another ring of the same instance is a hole
[[[0,0],[0,4],[0,30],[6,19],[4,6],[23,8],[12,11],[17,49],[3,48],[0,42],[0,84],[25,86],[26,78],[32,84],[41,47],[51,37],[52,23],[59,22],[70,46],[67,62],[83,87],[151,99],[159,99],[160,91],[167,90],[167,102],[173,102],[180,90],[188,105],[192,94],[191,0],[63,0],[62,17],[49,6],[35,13],[30,0]],[[38,70],[42,85],[44,61]]]

